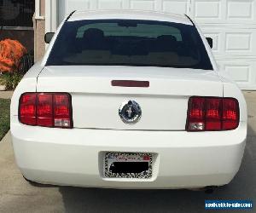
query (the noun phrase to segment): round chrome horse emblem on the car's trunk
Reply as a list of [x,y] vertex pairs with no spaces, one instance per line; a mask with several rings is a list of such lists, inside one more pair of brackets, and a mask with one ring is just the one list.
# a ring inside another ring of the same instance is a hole
[[125,124],[136,124],[142,117],[141,107],[136,101],[125,101],[119,107],[119,117]]

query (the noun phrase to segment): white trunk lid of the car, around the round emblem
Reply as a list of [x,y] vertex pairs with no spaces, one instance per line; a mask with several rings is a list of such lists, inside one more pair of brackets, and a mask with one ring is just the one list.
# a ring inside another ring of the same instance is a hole
[[[148,88],[114,87],[112,80],[148,81]],[[111,130],[185,130],[190,96],[223,96],[216,72],[141,66],[46,66],[38,92],[72,95],[74,128]],[[136,101],[137,124],[125,124],[119,107]]]

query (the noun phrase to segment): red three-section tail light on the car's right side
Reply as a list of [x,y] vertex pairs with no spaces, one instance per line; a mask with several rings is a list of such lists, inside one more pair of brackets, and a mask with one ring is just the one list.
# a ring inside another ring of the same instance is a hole
[[190,97],[186,130],[235,130],[239,124],[239,104],[235,98]]

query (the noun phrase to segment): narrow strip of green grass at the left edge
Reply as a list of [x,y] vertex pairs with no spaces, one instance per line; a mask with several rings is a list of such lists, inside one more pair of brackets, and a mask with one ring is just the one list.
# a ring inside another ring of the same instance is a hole
[[0,141],[9,131],[9,99],[0,99]]

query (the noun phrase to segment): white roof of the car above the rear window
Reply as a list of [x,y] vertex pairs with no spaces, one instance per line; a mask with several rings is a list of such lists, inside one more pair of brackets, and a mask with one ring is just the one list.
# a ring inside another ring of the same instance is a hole
[[184,14],[170,14],[145,10],[86,10],[75,11],[67,21],[75,20],[160,20],[185,25],[193,25],[191,20]]

